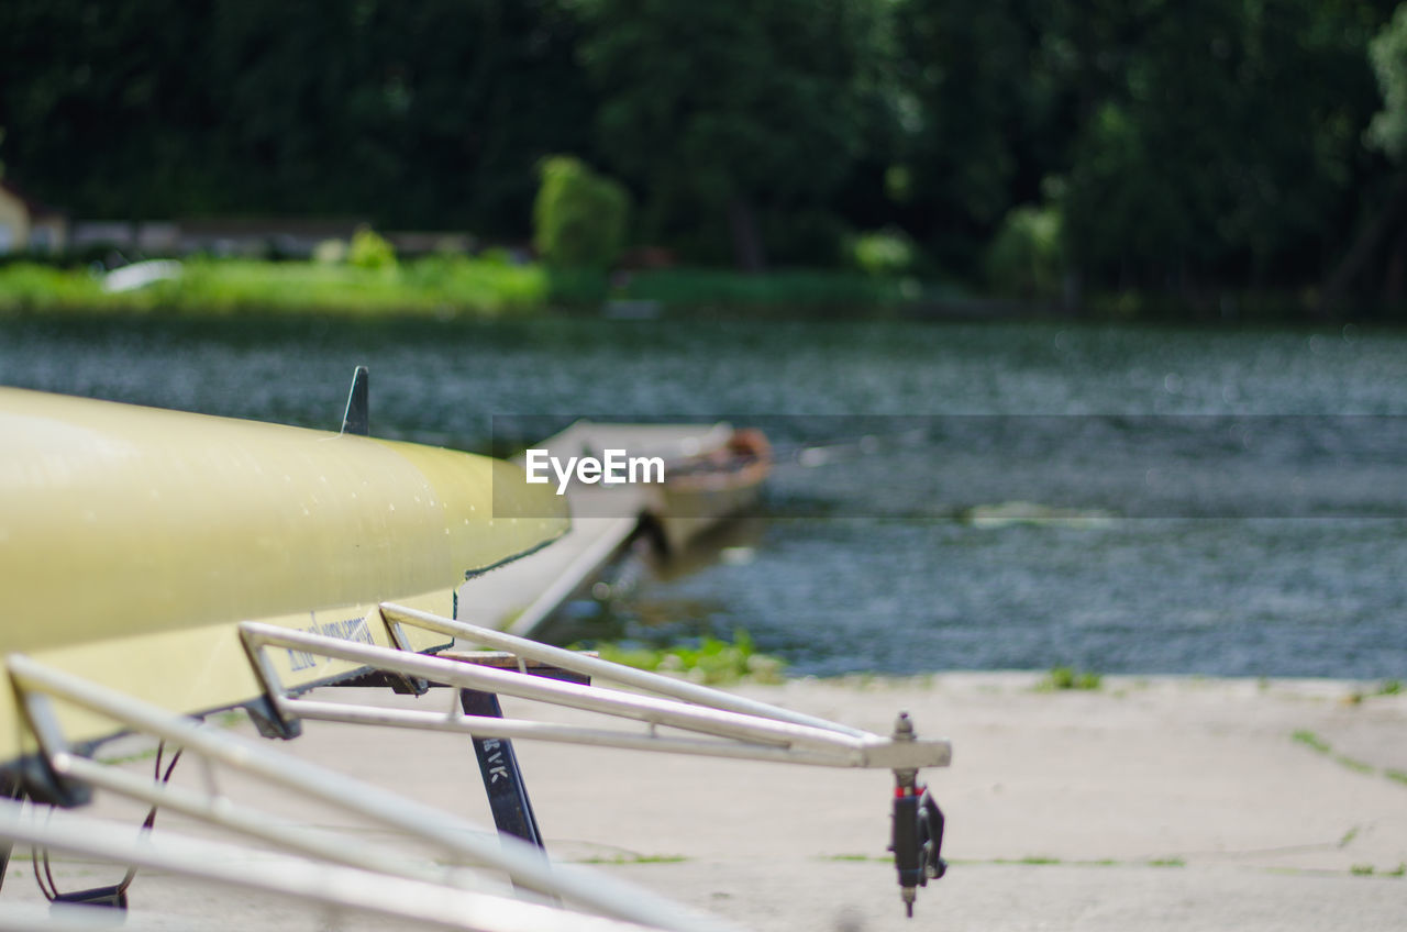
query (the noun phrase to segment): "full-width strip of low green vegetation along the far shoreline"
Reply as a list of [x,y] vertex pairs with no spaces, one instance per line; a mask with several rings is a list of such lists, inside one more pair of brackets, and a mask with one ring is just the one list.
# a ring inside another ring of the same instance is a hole
[[[158,263],[149,263],[158,265]],[[163,263],[165,265],[165,263]],[[553,310],[588,310],[640,320],[671,313],[763,311],[825,317],[933,320],[1062,320],[1088,322],[1334,324],[1372,313],[1311,313],[1299,296],[1221,296],[1202,307],[1137,293],[1089,296],[1078,307],[1005,298],[947,282],[848,269],[667,267],[640,272],[556,269],[481,256],[432,255],[364,267],[317,260],[190,258],[176,273],[139,287],[114,289],[100,265],[11,260],[0,263],[0,315],[231,318],[308,315],[339,318],[485,320]],[[132,269],[134,266],[122,266]],[[117,270],[117,269],[115,269]],[[115,272],[114,270],[114,272]]]

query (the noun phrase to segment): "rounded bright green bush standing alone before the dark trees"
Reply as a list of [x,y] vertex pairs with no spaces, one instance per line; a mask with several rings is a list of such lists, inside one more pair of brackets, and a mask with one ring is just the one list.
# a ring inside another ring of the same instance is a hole
[[625,245],[630,196],[570,156],[542,163],[533,245],[553,269],[605,269]]

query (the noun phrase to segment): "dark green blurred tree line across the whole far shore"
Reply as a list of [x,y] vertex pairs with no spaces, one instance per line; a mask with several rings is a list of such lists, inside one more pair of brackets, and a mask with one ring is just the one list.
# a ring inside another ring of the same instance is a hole
[[1407,296],[1407,4],[8,0],[0,163],[75,215],[526,241],[539,166],[628,239],[1026,296]]

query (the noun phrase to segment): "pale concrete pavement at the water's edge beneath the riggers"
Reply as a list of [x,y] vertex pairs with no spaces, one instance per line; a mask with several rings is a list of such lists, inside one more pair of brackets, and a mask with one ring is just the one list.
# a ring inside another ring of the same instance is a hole
[[[739,688],[885,733],[905,710],[922,735],[954,741],[953,767],[927,774],[948,815],[953,867],[920,891],[912,921],[885,853],[888,773],[518,750],[554,857],[751,929],[1407,928],[1407,695],[1355,703],[1365,687],[1304,680],[1106,677],[1089,693],[1038,691],[1037,681],[948,673]],[[340,697],[450,705],[442,693]],[[529,710],[587,721],[505,700],[508,715]],[[461,738],[308,724],[283,748],[490,824]],[[190,764],[177,772],[190,786],[200,779]],[[377,832],[234,776],[222,787],[304,824]],[[101,802],[97,812],[134,810]],[[159,826],[190,828],[169,815]],[[27,867],[11,866],[7,901],[37,897],[15,876]],[[68,886],[113,873],[59,871]],[[249,928],[386,928],[229,891],[191,894],[160,876],[139,877],[132,900],[136,909],[248,915]]]

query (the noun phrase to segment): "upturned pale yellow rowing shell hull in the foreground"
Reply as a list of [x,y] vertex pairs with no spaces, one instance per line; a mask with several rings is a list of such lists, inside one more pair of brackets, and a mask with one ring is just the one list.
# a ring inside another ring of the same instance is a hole
[[[236,625],[393,643],[383,601],[453,615],[454,588],[566,532],[564,501],[456,451],[0,389],[0,653],[176,712],[263,694]],[[286,687],[355,673],[269,652]],[[62,710],[79,741],[110,721]],[[0,766],[34,750],[0,690]]]

